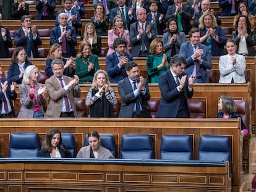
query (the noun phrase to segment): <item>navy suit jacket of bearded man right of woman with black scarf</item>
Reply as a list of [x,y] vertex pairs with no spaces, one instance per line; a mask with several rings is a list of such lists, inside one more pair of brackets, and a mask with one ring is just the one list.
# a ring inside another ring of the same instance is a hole
[[[139,101],[142,105],[143,117],[151,117],[150,115],[150,107],[148,106],[148,101],[150,100],[150,92],[148,88],[148,81],[144,79],[146,93],[139,93]],[[122,99],[122,105],[119,112],[119,117],[123,118],[131,118],[132,113],[134,112],[134,105],[136,102],[136,98],[134,96],[134,90],[132,85],[130,85],[129,78],[126,77],[123,80],[118,82],[118,93]]]

